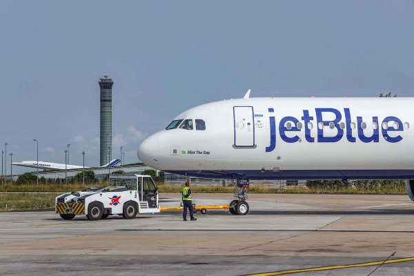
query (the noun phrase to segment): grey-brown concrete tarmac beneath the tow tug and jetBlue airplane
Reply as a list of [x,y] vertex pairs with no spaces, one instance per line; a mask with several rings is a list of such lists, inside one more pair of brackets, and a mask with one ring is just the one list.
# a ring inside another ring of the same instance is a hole
[[[195,194],[199,205],[230,194]],[[179,206],[179,194],[162,194]],[[414,275],[407,195],[250,194],[225,210],[63,221],[53,211],[0,213],[1,275]]]

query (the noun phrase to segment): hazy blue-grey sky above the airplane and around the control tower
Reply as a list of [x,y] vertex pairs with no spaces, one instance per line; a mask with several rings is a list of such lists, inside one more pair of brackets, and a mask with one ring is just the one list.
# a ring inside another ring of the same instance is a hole
[[[188,108],[243,97],[414,95],[414,1],[0,0],[0,149],[99,166],[99,85],[112,157]],[[10,162],[10,156],[8,156]],[[13,172],[26,168],[14,166]],[[29,169],[30,170],[30,169]],[[8,165],[10,172],[10,165]]]

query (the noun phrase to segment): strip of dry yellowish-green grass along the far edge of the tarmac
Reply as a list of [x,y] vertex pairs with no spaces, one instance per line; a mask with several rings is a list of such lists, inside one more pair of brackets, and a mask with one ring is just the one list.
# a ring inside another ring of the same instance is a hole
[[[64,192],[83,190],[90,186],[107,186],[107,184],[36,184],[0,186],[0,212],[12,210],[35,210],[55,207],[55,197]],[[183,186],[158,184],[159,193],[181,193]],[[191,187],[193,193],[235,193],[235,186],[201,186]],[[36,192],[36,193],[33,193]],[[282,193],[282,194],[393,194],[406,195],[405,186],[375,188],[314,188],[306,186],[288,186],[286,188],[270,188],[268,186],[250,185],[248,193]]]

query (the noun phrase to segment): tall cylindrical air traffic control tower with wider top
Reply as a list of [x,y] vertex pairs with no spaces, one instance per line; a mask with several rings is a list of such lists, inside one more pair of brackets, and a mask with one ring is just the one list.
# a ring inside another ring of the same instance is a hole
[[112,85],[108,74],[99,79],[101,88],[101,166],[111,160],[112,155]]

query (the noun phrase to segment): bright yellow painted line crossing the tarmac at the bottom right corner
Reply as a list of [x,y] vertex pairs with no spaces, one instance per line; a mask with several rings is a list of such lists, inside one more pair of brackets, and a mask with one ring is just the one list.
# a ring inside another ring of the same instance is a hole
[[268,273],[249,274],[247,276],[286,275],[286,274],[293,274],[293,273],[333,270],[333,269],[341,269],[341,268],[354,268],[354,267],[362,267],[362,266],[380,266],[381,264],[395,264],[395,263],[410,262],[410,261],[414,261],[414,257],[403,258],[403,259],[388,259],[386,261],[369,262],[369,263],[363,263],[363,264],[345,264],[342,266],[322,266],[322,267],[317,267],[317,268],[274,271],[274,272],[268,272]]

